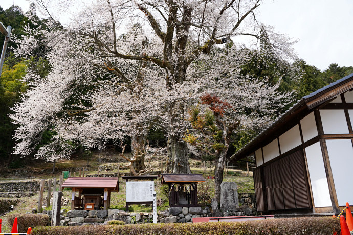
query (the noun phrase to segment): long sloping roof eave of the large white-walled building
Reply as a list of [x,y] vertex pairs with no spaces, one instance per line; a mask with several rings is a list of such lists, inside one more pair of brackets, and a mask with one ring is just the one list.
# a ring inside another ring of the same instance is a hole
[[240,160],[254,153],[258,148],[270,143],[280,133],[288,129],[290,123],[295,123],[311,112],[312,109],[329,103],[336,96],[353,89],[353,73],[333,82],[307,96],[302,97],[289,110],[285,111],[272,124],[256,137],[254,137],[247,145],[236,152],[231,159]]

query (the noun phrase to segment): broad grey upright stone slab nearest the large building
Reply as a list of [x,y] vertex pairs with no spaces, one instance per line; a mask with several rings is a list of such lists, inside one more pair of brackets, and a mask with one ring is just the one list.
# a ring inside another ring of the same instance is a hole
[[[239,207],[238,189],[235,182],[220,184],[220,209],[232,210]],[[213,208],[212,208],[213,209]]]

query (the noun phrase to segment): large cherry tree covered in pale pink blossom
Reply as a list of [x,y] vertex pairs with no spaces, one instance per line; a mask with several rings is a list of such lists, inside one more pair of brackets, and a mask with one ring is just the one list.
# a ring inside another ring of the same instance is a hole
[[[50,3],[53,1],[37,1],[43,13],[51,17],[53,28],[32,32],[17,50],[25,55],[46,43],[52,65],[45,80],[32,73],[26,77],[34,88],[12,116],[21,124],[15,135],[17,154],[33,152],[35,139],[48,129],[55,135],[38,154],[50,152],[54,156],[51,159],[68,156],[62,150],[76,142],[94,147],[99,138],[121,140],[124,134],[132,136],[138,149],[144,145],[151,125],[158,125],[168,135],[168,171],[190,173],[183,140],[188,126],[186,110],[202,91],[222,93],[232,87],[230,80],[215,79],[225,68],[213,56],[215,45],[250,36],[255,45],[266,40],[278,58],[293,55],[288,38],[258,23],[260,0],[98,0],[82,6],[68,27],[60,25],[55,12],[69,2],[55,3],[56,11],[48,8]],[[43,37],[38,40],[33,35]],[[227,60],[228,67],[234,66],[229,78],[237,75],[245,55],[233,56],[239,58]],[[273,97],[270,93],[274,89],[263,91],[263,84],[252,78],[241,79],[247,82],[247,89],[259,89],[261,95]],[[251,99],[253,92],[242,97],[244,93],[239,90],[228,90],[234,99],[228,101],[232,107],[245,100],[260,105]]]

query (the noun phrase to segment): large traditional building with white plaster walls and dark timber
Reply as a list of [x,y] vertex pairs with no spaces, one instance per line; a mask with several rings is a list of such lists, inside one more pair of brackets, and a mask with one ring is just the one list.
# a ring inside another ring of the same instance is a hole
[[338,213],[353,204],[353,74],[303,97],[234,154],[255,154],[257,210]]

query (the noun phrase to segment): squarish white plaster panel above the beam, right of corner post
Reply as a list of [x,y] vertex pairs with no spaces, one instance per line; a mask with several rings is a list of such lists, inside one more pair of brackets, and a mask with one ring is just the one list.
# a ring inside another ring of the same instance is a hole
[[349,134],[344,110],[320,110],[322,126],[325,134]]

